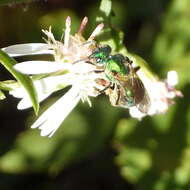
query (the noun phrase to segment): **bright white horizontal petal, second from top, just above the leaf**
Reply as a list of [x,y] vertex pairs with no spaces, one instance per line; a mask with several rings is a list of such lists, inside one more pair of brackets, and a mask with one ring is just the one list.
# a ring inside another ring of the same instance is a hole
[[18,63],[14,68],[24,74],[45,74],[64,69],[64,64],[54,61],[25,61]]

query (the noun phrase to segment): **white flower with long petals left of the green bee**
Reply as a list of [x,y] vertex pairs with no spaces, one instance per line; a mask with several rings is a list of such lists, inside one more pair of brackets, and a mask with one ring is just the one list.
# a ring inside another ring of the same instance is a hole
[[[87,17],[83,19],[78,33],[73,36],[70,34],[71,19],[67,17],[64,43],[55,40],[50,28],[49,31],[43,31],[48,37],[47,44],[31,43],[3,48],[10,56],[34,54],[54,56],[54,61],[25,61],[14,66],[16,70],[24,74],[33,75],[32,79],[40,102],[56,90],[71,86],[70,90],[31,126],[32,128],[39,127],[42,136],[51,137],[80,100],[87,101],[91,106],[89,96],[96,97],[99,95],[99,90],[103,88],[96,83],[96,79],[104,77],[103,74],[95,73],[96,66],[86,63],[86,59],[95,48],[93,39],[101,32],[103,24],[98,25],[90,37],[85,40],[82,32],[86,24]],[[34,75],[39,74],[49,74],[49,76],[35,79]],[[20,87],[10,91],[10,94],[22,99],[17,106],[18,109],[32,106],[24,88]]]

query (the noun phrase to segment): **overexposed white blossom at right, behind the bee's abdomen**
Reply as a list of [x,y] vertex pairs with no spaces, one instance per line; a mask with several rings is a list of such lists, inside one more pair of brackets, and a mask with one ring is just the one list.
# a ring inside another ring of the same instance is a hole
[[150,99],[150,105],[147,113],[142,113],[136,106],[129,109],[132,117],[141,119],[146,115],[155,115],[165,113],[170,104],[173,104],[173,98],[182,97],[182,93],[177,91],[174,86],[178,83],[176,71],[169,71],[165,81],[158,80],[155,77],[147,77],[140,69],[137,72],[142,80]]

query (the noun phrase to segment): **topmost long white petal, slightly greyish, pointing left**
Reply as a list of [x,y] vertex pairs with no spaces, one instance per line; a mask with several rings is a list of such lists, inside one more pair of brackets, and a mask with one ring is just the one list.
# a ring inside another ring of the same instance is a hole
[[50,45],[45,43],[17,44],[2,48],[9,56],[17,57],[23,55],[53,54]]

